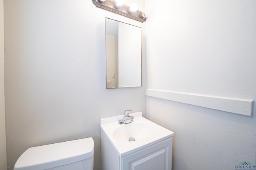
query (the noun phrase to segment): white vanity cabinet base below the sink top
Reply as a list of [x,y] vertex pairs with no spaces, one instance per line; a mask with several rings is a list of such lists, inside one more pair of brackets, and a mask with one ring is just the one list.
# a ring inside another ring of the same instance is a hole
[[102,170],[171,170],[172,137],[120,156],[102,132]]

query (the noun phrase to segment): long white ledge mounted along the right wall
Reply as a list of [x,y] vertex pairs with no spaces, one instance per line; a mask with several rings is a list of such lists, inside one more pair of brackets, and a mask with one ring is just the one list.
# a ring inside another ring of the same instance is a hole
[[145,89],[145,95],[253,117],[253,100]]

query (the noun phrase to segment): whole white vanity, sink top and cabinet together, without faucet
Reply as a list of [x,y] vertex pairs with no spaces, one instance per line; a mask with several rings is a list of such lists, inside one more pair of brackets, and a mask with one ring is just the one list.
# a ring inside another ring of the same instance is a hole
[[171,170],[174,133],[141,111],[130,115],[134,121],[122,125],[124,115],[100,119],[102,170]]

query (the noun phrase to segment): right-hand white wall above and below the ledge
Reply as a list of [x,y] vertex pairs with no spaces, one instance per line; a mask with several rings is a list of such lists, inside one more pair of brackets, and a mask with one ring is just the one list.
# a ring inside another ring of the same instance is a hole
[[[145,6],[147,88],[256,100],[255,0]],[[174,131],[173,170],[256,164],[256,117],[149,96],[146,116]]]

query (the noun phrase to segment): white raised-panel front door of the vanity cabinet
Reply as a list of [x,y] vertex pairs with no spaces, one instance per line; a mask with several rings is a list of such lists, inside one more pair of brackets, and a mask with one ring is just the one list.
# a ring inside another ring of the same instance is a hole
[[171,170],[172,137],[120,158],[120,170]]

